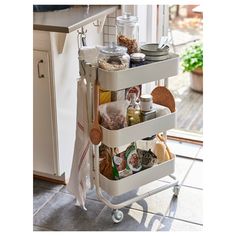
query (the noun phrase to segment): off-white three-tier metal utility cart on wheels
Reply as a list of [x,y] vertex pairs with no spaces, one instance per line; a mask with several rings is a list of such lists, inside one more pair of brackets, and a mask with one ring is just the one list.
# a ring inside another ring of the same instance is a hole
[[[139,84],[145,84],[152,81],[164,80],[165,86],[168,85],[168,77],[178,74],[179,58],[176,54],[170,54],[170,58],[164,61],[153,62],[143,66],[129,68],[121,71],[105,71],[93,66],[85,61],[80,61],[80,73],[84,73],[87,80],[87,96],[88,96],[88,114],[90,128],[93,121],[93,88],[95,80],[98,79],[100,87],[104,90],[117,91]],[[175,127],[176,112],[157,117],[133,126],[125,127],[119,130],[108,130],[101,126],[102,143],[108,147],[119,147],[132,143],[136,140],[152,136],[153,134],[164,132]],[[166,135],[165,135],[166,136]],[[166,137],[165,137],[166,138]],[[99,171],[99,145],[91,145],[90,148],[90,176],[91,183],[96,187],[96,194],[100,201],[104,202],[108,207],[113,209],[112,220],[119,223],[123,219],[122,207],[137,202],[145,197],[151,196],[163,190],[173,187],[174,195],[179,193],[179,185],[176,178],[172,175],[175,170],[175,155],[172,158],[159,165],[140,171],[134,175],[127,176],[120,180],[110,180],[103,176]],[[113,204],[106,199],[102,190],[110,196],[118,196],[139,188],[152,181],[158,180],[165,176],[170,176],[173,182],[167,183],[161,187],[153,189],[142,195],[136,196],[125,202]]]

